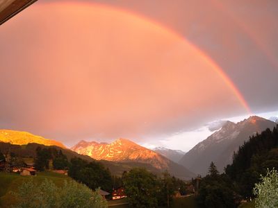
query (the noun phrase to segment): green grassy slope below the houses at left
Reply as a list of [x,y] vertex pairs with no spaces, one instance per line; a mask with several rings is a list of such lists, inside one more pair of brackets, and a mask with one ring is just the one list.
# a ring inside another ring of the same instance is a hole
[[67,175],[44,171],[35,176],[22,176],[16,173],[0,173],[0,207],[10,207],[13,196],[10,191],[17,191],[22,182],[33,177],[35,182],[42,182],[45,178],[52,180],[57,186],[62,186],[65,180],[71,180]]

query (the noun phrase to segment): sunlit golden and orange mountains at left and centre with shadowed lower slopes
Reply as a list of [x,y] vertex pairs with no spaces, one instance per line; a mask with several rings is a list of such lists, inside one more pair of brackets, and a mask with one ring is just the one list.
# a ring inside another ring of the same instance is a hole
[[[74,152],[59,141],[45,139],[29,132],[0,130],[0,151],[2,153],[13,152],[22,158],[35,158],[35,150],[38,146],[42,148],[51,146],[61,150],[68,159],[80,157],[88,162],[97,159],[109,168],[113,175],[122,175],[124,171],[129,171],[131,168],[142,167],[156,174],[167,169],[172,175],[182,179],[195,176],[183,166],[128,139],[117,139],[112,144],[80,141],[75,146],[76,152]],[[91,149],[92,146],[95,146],[94,151]]]

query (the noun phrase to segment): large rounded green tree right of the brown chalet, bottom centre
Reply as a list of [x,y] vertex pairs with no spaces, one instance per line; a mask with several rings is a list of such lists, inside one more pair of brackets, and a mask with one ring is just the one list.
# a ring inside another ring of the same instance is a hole
[[145,168],[132,168],[123,175],[123,183],[129,203],[133,207],[157,207],[157,179]]

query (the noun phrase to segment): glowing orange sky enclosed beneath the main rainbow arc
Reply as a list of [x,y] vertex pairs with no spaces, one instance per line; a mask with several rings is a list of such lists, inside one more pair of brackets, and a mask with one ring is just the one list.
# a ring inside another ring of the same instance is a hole
[[1,58],[1,123],[68,144],[140,141],[248,112],[222,69],[177,34],[96,3],[34,4],[0,28],[13,46]]

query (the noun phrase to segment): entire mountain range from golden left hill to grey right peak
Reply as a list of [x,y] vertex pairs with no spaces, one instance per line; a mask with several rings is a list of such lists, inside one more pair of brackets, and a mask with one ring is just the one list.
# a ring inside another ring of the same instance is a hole
[[150,150],[122,138],[111,144],[81,140],[69,149],[58,141],[14,130],[0,130],[0,150],[3,152],[11,149],[22,157],[35,157],[36,146],[53,146],[62,150],[69,159],[72,157],[81,157],[88,161],[97,159],[115,175],[121,175],[123,171],[140,166],[156,174],[167,169],[172,175],[188,179],[194,177],[195,173],[206,175],[211,162],[214,162],[218,171],[222,173],[224,167],[231,164],[234,152],[250,136],[276,125],[277,123],[259,116],[250,116],[238,123],[225,121],[220,130],[199,142],[185,154],[181,150],[167,148]]

